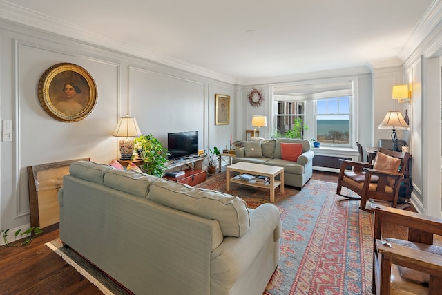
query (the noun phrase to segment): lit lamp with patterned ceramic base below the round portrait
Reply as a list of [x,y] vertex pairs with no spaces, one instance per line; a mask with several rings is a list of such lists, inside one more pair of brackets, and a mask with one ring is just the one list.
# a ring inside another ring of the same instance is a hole
[[138,137],[142,135],[140,128],[138,127],[137,120],[134,117],[120,117],[117,127],[112,133],[116,137],[126,137],[119,140],[119,160],[131,160],[133,154],[134,142],[133,139],[128,137]]

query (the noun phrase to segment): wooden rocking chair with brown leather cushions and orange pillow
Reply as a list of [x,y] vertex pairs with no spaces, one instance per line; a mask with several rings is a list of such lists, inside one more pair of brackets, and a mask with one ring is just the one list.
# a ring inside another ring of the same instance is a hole
[[[373,164],[340,159],[340,171],[336,193],[345,198],[360,199],[360,209],[365,210],[367,200],[391,202],[396,207],[399,189],[408,164],[410,153],[400,153],[381,148]],[[346,170],[352,167],[352,170]],[[342,187],[351,189],[358,196],[341,194]],[[368,211],[371,211],[368,209]]]

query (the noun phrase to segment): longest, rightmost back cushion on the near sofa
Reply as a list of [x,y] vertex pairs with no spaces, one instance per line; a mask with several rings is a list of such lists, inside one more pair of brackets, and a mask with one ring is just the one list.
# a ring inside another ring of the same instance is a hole
[[246,202],[227,193],[158,181],[151,185],[147,198],[173,209],[218,220],[223,236],[240,238],[250,226]]

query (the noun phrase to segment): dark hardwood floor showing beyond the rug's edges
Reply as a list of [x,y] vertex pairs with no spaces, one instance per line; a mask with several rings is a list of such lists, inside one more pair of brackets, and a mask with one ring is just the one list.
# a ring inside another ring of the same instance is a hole
[[[314,171],[313,179],[337,182],[336,173]],[[392,229],[399,233],[401,229]],[[37,236],[26,247],[0,247],[0,294],[101,294],[45,243],[59,230]]]

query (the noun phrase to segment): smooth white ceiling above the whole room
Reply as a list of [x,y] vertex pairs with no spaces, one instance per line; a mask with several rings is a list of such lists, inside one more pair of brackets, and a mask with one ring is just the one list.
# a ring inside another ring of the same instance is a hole
[[[139,55],[155,61],[235,79],[352,68],[400,58],[432,2],[0,0],[1,6],[26,13],[28,19],[20,21],[32,26],[41,23],[45,30],[66,32],[75,39],[106,40],[117,50],[136,48]],[[0,12],[0,18],[19,19],[11,15]],[[48,28],[50,23],[54,28]]]

